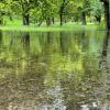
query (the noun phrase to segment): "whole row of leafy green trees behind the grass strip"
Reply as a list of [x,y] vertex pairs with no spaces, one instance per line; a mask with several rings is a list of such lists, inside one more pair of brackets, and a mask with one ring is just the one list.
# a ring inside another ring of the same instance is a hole
[[3,18],[12,20],[15,15],[22,16],[23,25],[34,21],[38,26],[45,21],[47,26],[59,21],[61,25],[68,21],[101,22],[106,18],[110,29],[109,0],[0,0],[0,24]]

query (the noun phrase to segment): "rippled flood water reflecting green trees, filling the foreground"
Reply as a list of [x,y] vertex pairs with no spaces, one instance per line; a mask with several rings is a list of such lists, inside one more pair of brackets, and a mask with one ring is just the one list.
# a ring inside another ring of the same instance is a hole
[[0,110],[110,110],[109,36],[0,31]]

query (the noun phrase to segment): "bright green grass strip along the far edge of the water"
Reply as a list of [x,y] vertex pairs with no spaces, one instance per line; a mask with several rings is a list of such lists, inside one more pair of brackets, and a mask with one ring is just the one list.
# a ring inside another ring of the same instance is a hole
[[7,25],[1,25],[0,30],[2,31],[78,31],[78,30],[103,30],[105,28],[99,24],[88,23],[87,25],[81,25],[81,23],[64,23],[63,26],[59,25],[59,22],[55,22],[54,25],[46,26],[43,23],[41,26],[31,24],[29,26],[22,25],[20,20],[9,21]]

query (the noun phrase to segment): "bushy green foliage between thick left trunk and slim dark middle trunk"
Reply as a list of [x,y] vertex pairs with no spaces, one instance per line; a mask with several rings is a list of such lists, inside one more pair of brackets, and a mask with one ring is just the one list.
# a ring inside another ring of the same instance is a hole
[[47,26],[54,23],[57,13],[57,0],[38,0],[37,4],[31,10],[31,14],[36,19],[38,25],[45,20]]

